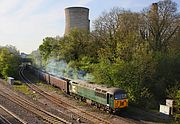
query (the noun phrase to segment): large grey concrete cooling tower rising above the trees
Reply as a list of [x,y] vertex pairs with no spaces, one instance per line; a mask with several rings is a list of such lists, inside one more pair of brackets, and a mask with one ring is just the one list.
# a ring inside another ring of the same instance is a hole
[[89,9],[85,7],[68,7],[65,9],[66,27],[65,35],[68,35],[72,29],[89,31]]

